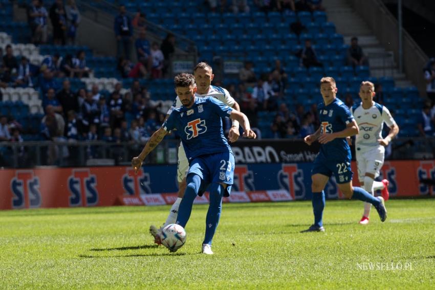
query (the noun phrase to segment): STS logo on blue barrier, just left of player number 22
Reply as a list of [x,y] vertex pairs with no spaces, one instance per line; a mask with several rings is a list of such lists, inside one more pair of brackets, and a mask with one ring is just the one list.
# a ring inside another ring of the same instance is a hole
[[296,164],[282,164],[282,169],[278,172],[278,184],[279,188],[287,190],[293,199],[305,197],[303,172]]

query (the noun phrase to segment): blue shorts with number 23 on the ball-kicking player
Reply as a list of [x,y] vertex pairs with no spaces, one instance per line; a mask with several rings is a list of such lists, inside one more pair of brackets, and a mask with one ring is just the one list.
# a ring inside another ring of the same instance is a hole
[[230,196],[231,185],[234,180],[234,155],[230,152],[201,155],[190,161],[189,172],[197,174],[202,179],[198,195],[202,195],[209,184],[228,184],[224,196]]

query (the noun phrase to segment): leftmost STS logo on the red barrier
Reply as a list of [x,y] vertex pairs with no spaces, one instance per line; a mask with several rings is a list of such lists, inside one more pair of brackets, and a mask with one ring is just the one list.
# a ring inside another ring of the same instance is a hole
[[38,208],[41,206],[39,178],[33,171],[16,171],[11,180],[12,208]]

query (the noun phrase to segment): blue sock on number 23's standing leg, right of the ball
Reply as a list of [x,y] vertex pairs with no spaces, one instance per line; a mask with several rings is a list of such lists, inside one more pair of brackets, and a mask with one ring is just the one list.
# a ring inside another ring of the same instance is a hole
[[211,244],[222,212],[222,196],[224,187],[219,183],[210,186],[210,205],[205,219],[205,237],[203,243]]

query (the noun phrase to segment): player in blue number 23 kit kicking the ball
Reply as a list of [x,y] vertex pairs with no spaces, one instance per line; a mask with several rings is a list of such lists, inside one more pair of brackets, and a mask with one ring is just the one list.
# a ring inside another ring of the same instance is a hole
[[230,195],[234,177],[234,155],[224,136],[222,118],[229,117],[240,122],[244,137],[255,138],[256,135],[245,114],[215,98],[196,97],[197,86],[193,75],[177,75],[175,86],[183,105],[173,109],[162,127],[145,144],[139,156],[133,158],[132,166],[137,172],[143,160],[162,141],[166,133],[173,129],[178,130],[190,167],[176,223],[186,227],[193,200],[197,195],[201,196],[209,186],[210,205],[206,216],[202,253],[213,254],[211,241],[221,217],[222,198]]

